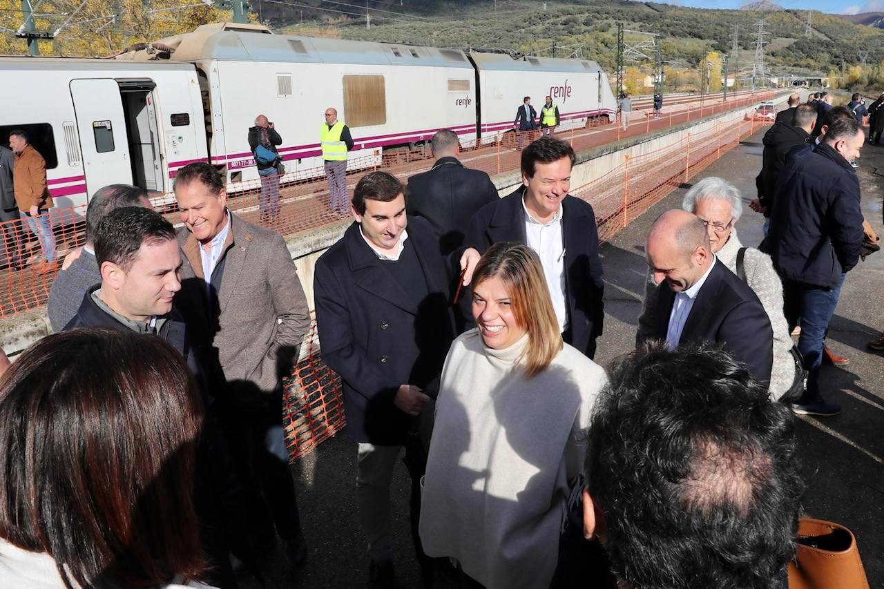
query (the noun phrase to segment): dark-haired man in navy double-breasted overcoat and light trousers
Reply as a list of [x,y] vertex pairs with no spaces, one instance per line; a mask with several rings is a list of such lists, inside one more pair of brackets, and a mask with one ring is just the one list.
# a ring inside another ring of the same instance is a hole
[[[316,325],[324,363],[343,384],[347,434],[358,443],[356,491],[369,544],[370,587],[393,586],[390,483],[402,447],[417,535],[432,399],[454,338],[449,276],[431,225],[408,217],[403,188],[370,172],[353,194],[355,223],[316,260]],[[408,226],[408,230],[406,227]],[[462,260],[471,275],[478,252]],[[468,264],[469,262],[469,264]]]

